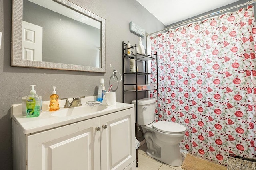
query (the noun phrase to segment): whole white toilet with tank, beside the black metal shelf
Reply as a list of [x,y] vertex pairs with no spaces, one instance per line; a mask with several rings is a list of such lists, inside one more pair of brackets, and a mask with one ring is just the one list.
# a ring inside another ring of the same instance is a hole
[[[138,105],[138,125],[141,125],[147,143],[148,156],[170,166],[181,166],[182,157],[179,143],[185,135],[186,127],[174,122],[154,122],[155,99],[143,98],[132,101],[135,112]],[[136,117],[136,116],[135,116]],[[135,120],[137,121],[137,120]]]

